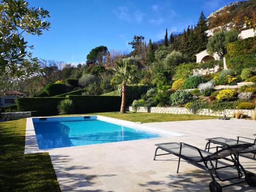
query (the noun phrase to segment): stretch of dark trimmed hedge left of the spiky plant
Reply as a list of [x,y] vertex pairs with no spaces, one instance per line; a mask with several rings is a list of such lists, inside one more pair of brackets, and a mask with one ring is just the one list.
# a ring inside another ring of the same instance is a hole
[[18,111],[36,111],[34,116],[57,115],[57,105],[65,97],[17,98]]

